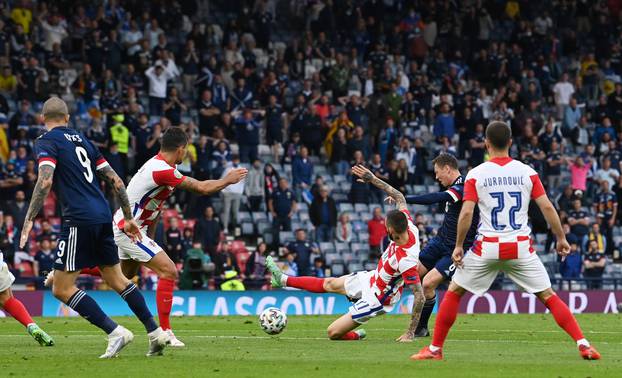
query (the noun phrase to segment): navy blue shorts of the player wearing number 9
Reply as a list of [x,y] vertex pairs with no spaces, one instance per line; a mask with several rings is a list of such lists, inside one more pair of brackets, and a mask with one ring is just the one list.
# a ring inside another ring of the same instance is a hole
[[82,268],[119,263],[112,222],[89,225],[63,224],[56,247],[54,269],[75,272]]

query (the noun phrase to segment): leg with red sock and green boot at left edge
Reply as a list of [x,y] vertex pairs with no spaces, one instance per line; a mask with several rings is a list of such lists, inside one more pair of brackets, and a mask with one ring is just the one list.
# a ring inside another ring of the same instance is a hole
[[[4,264],[4,263],[2,263]],[[6,264],[4,264],[6,265]],[[26,330],[41,346],[53,346],[54,340],[45,333],[39,326],[32,320],[32,317],[28,313],[28,310],[24,304],[13,296],[13,292],[9,286],[13,283],[13,275],[6,268],[6,272],[3,272],[4,267],[0,267],[0,308],[7,314],[11,315],[15,320],[22,323]],[[5,274],[7,273],[7,274]],[[10,274],[10,275],[9,275]],[[6,289],[3,289],[6,287]]]

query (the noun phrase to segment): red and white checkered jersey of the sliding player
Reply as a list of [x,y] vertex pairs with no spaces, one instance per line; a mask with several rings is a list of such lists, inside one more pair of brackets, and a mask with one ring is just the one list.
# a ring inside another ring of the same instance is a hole
[[408,210],[402,210],[408,218],[408,243],[389,243],[380,257],[378,267],[370,278],[370,287],[383,305],[399,301],[404,285],[419,282],[419,229],[415,226]]

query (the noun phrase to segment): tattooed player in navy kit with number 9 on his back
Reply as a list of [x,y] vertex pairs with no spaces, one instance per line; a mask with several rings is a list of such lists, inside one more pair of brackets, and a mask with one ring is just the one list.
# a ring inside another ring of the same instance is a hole
[[98,178],[115,190],[124,213],[124,231],[139,241],[141,234],[132,217],[125,185],[97,148],[80,132],[67,127],[69,114],[63,100],[50,98],[42,113],[48,132],[35,142],[39,177],[22,228],[20,247],[26,245],[33,220],[53,189],[60,200],[63,219],[54,261],[54,296],[106,332],[108,348],[100,358],[115,357],[134,335],[110,319],[90,296],[75,286],[82,268],[98,266],[104,281],[123,297],[144,324],[149,335],[147,356],[160,355],[170,343],[170,336],[158,327],[136,285],[121,272],[112,215]]

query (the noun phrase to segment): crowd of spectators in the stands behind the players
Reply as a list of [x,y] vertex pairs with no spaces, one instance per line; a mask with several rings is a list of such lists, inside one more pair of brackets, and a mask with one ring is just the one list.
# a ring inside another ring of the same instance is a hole
[[[173,126],[192,141],[182,173],[250,168],[218,196],[180,192],[168,204],[156,240],[178,263],[181,288],[265,287],[270,252],[290,275],[373,267],[383,196],[350,166],[409,194],[438,191],[432,158],[454,154],[466,174],[487,158],[486,124],[503,120],[513,157],[545,178],[568,230],[573,253],[557,261],[534,208],[547,269],[601,287],[603,275],[622,278],[613,264],[621,9],[616,0],[0,1],[0,249],[23,282],[53,265],[53,197],[29,250],[16,247],[37,178],[37,113],[51,94],[122,177]],[[443,209],[413,211],[425,243]]]

